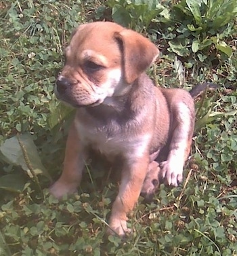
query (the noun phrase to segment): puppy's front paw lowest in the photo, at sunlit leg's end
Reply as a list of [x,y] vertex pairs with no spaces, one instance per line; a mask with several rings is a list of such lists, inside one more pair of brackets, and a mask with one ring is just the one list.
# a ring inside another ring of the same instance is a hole
[[117,234],[120,237],[125,237],[125,235],[131,233],[131,229],[127,227],[127,222],[123,220],[113,220],[110,221],[110,226],[107,228],[108,235]]

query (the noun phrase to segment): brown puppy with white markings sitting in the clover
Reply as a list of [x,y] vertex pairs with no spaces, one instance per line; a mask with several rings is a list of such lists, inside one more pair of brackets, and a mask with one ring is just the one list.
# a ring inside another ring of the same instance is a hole
[[[60,198],[77,191],[89,148],[110,160],[119,157],[121,185],[109,225],[120,236],[128,232],[127,213],[140,192],[154,193],[149,183],[159,171],[177,186],[190,152],[194,101],[185,90],[152,84],[145,71],[158,54],[156,45],[119,24],[83,24],[72,34],[56,81],[56,96],[76,107],[77,114],[64,170],[51,193]],[[160,169],[153,161],[165,146],[167,159]]]

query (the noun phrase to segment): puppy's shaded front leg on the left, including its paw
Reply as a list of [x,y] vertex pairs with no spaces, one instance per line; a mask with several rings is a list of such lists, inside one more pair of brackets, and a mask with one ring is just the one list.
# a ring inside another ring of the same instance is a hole
[[85,158],[85,149],[82,146],[78,131],[73,122],[66,141],[62,175],[49,189],[53,196],[61,198],[65,194],[72,194],[77,191],[77,186],[81,182],[81,176],[85,166]]

